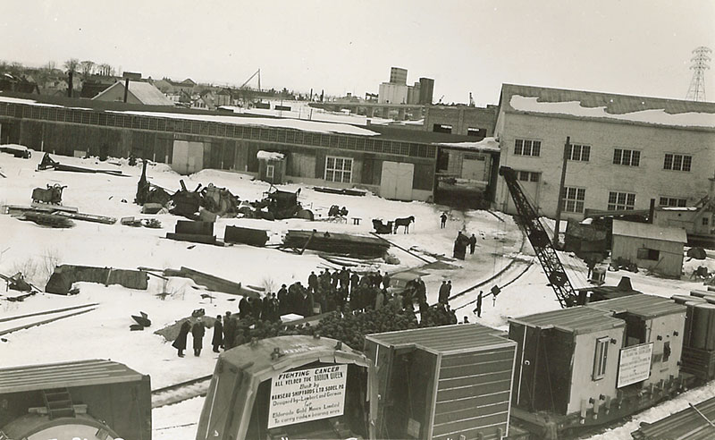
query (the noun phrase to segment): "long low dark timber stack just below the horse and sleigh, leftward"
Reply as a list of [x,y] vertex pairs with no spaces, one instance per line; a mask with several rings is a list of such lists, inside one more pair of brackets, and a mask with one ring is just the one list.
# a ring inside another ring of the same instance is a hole
[[286,233],[283,245],[297,250],[317,250],[359,258],[381,258],[390,249],[390,243],[374,237],[297,230]]

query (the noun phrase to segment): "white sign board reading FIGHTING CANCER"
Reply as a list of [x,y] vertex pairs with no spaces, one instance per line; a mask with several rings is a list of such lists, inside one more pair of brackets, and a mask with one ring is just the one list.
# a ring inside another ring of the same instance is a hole
[[268,428],[341,416],[347,365],[286,371],[273,377]]

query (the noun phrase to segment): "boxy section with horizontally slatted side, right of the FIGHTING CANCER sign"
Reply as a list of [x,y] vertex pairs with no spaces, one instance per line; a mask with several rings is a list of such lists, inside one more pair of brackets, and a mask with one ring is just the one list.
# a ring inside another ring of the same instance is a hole
[[508,436],[516,346],[478,324],[367,335],[371,437]]

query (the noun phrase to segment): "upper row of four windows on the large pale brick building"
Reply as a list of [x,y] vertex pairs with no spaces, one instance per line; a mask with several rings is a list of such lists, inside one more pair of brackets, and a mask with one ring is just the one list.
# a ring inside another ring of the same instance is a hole
[[[514,140],[515,156],[539,157],[541,155],[542,143],[540,140]],[[568,160],[589,162],[591,160],[591,146],[581,144],[571,144],[567,151]],[[614,148],[613,164],[626,166],[640,166],[641,152],[637,149]],[[663,158],[663,169],[673,171],[690,171],[693,164],[693,157],[690,155],[679,155],[666,153]]]

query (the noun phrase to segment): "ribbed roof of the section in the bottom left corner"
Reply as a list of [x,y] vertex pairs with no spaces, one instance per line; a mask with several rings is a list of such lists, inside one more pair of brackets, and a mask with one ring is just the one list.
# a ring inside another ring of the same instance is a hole
[[143,376],[111,360],[79,360],[0,369],[0,394],[136,382]]

